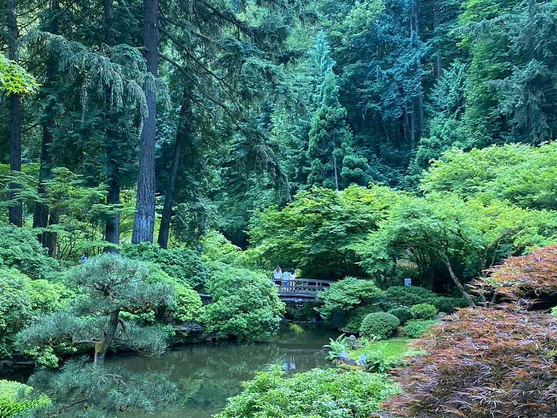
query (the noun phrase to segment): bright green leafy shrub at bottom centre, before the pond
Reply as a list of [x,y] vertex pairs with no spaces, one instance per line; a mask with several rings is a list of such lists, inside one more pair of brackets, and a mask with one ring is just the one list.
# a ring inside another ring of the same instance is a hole
[[398,392],[384,374],[313,369],[286,378],[278,366],[243,385],[215,418],[368,417]]

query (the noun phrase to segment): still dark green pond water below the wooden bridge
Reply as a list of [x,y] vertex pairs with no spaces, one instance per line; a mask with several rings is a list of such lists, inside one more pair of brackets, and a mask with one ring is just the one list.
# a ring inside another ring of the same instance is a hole
[[[178,405],[157,412],[158,418],[210,418],[226,406],[226,399],[242,392],[241,382],[278,364],[288,373],[329,367],[322,346],[338,332],[312,325],[287,325],[267,343],[210,343],[184,346],[149,359],[119,355],[107,363],[136,371],[169,371],[178,384]],[[134,412],[118,417],[152,417]]]

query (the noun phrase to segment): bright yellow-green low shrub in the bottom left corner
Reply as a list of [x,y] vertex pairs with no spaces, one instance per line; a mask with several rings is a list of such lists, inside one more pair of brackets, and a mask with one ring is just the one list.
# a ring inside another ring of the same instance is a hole
[[29,410],[50,404],[45,394],[33,394],[33,388],[19,382],[0,380],[0,418],[24,415]]

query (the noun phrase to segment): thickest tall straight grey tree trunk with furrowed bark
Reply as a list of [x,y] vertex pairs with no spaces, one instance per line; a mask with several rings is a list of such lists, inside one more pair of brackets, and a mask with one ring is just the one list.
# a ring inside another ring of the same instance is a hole
[[[145,0],[145,22],[143,23],[143,43],[146,47],[147,70],[157,77],[157,0]],[[143,118],[143,130],[139,144],[139,178],[134,212],[132,242],[152,242],[155,229],[155,142],[157,130],[157,101],[155,80],[147,80],[145,90],[148,115]]]

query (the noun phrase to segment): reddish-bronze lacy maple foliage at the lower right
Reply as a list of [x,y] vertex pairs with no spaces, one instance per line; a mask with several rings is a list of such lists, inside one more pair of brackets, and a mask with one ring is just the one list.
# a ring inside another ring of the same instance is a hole
[[552,246],[508,258],[478,279],[481,294],[505,303],[486,300],[433,325],[419,341],[426,354],[397,373],[403,390],[389,416],[554,416],[557,322],[528,297],[554,300],[556,254]]

